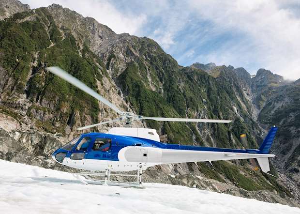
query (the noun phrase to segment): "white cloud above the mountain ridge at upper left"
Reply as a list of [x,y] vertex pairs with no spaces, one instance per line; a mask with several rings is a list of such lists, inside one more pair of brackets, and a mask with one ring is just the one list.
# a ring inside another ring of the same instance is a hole
[[53,3],[60,4],[83,16],[95,18],[116,33],[136,34],[147,21],[146,15],[121,12],[108,0],[21,0],[21,2],[29,4],[31,9],[47,7]]

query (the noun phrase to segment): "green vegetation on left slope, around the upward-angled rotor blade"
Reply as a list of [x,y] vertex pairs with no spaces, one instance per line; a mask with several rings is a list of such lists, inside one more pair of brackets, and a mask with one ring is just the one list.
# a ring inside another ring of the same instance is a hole
[[[18,23],[15,21],[16,17],[20,15],[0,22],[0,52],[5,53],[1,55],[0,63],[14,80],[7,93],[26,92],[33,102],[40,102],[40,105],[48,103],[43,109],[44,112],[52,111],[54,115],[55,112],[59,113],[50,121],[42,120],[36,123],[48,132],[64,132],[68,118],[75,112],[79,112],[82,122],[85,115],[91,117],[91,122],[97,122],[97,100],[59,77],[45,73],[44,69],[46,66],[60,66],[90,88],[97,90],[96,79],[101,83],[102,75],[107,75],[106,70],[100,69],[104,68],[103,62],[86,45],[81,49],[80,56],[77,42],[68,29],[62,29],[62,40],[59,29],[45,8],[37,9],[35,16],[25,13],[22,18],[28,17],[28,21]],[[47,28],[49,31],[45,31]],[[53,46],[49,47],[51,42]],[[36,60],[35,55],[38,55],[38,59],[36,64],[33,64]],[[34,107],[30,107],[28,111],[30,116],[33,116],[32,108]],[[60,127],[55,128],[54,122],[59,122]]]

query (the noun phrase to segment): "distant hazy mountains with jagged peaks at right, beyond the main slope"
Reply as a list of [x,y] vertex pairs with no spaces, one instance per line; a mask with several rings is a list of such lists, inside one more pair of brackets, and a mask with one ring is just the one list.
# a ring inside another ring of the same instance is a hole
[[[273,152],[276,153],[274,164],[295,183],[291,184],[288,181],[286,185],[294,185],[292,188],[298,194],[300,186],[299,80],[293,83],[265,69],[259,69],[252,78],[245,69],[235,69],[232,66],[215,66],[206,70],[208,74],[215,77],[230,76],[230,71],[240,77],[238,80],[240,88],[245,90],[249,98],[252,98],[254,104],[252,110],[257,113],[257,116],[254,115],[257,119],[255,121],[262,130],[267,131],[272,125],[279,127],[272,147]],[[280,179],[286,180],[286,178]]]

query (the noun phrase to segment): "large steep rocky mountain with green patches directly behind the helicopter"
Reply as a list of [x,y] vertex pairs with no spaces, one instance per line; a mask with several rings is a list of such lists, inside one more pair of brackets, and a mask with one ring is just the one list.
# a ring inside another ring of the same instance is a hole
[[[0,158],[75,171],[55,164],[50,154],[80,134],[76,127],[117,117],[45,71],[47,66],[60,66],[117,107],[136,114],[233,120],[230,124],[134,123],[155,128],[171,143],[258,148],[262,141],[253,78],[244,69],[210,66],[203,71],[180,66],[154,40],[116,34],[57,4],[20,12],[0,21]],[[105,132],[109,127],[88,131]],[[247,135],[247,142],[240,141],[241,133]],[[286,182],[278,179],[285,171],[272,168],[275,179],[255,171],[248,160],[213,165],[152,167],[146,170],[145,181],[299,206],[297,188],[286,188]]]

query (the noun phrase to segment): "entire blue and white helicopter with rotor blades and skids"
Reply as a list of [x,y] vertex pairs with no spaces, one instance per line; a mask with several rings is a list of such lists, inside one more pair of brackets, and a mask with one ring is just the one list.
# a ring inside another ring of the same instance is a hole
[[[269,174],[269,157],[275,156],[274,154],[269,153],[278,129],[275,126],[271,127],[269,134],[264,139],[259,149],[225,149],[162,143],[160,142],[160,137],[155,129],[133,128],[131,127],[132,121],[155,120],[222,123],[228,123],[231,121],[144,117],[141,115],[135,115],[132,112],[124,112],[100,94],[94,92],[83,82],[66,73],[59,67],[48,67],[46,70],[60,76],[62,79],[82,91],[87,92],[120,115],[120,118],[118,119],[80,127],[77,128],[77,130],[84,130],[109,122],[126,121],[125,127],[114,127],[107,133],[82,134],[53,153],[53,159],[62,165],[91,171],[80,173],[81,175],[89,178],[84,182],[114,185],[116,182],[110,181],[110,172],[137,170],[137,181],[133,186],[135,186],[135,184],[141,186],[142,170],[151,166],[172,163],[196,163],[201,161],[209,161],[211,163],[211,161],[250,158],[256,158],[261,170]],[[105,173],[96,173],[95,171],[105,171]],[[105,180],[94,180],[91,178],[91,176],[97,175],[105,176]]]

